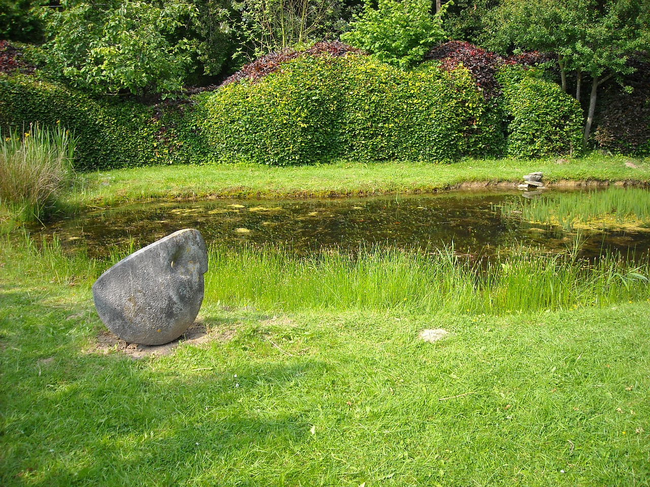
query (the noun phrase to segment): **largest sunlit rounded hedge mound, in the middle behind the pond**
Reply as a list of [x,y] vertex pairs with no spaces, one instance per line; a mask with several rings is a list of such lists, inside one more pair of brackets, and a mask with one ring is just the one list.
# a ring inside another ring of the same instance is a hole
[[443,162],[499,147],[499,120],[466,69],[404,72],[367,56],[301,57],[200,103],[218,160]]

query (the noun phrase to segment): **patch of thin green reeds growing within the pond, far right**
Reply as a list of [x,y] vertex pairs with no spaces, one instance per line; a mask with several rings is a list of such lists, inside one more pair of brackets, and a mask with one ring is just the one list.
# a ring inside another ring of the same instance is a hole
[[512,199],[499,206],[506,218],[559,225],[565,231],[584,225],[650,221],[650,192],[640,188],[545,194],[536,199]]

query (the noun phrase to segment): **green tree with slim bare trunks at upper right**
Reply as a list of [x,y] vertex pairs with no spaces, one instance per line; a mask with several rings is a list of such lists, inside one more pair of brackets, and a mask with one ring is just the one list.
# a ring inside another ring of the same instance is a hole
[[497,51],[519,47],[556,53],[565,91],[567,73],[576,73],[578,100],[582,75],[591,77],[586,147],[598,88],[631,73],[629,56],[650,49],[649,18],[647,0],[507,0],[491,12],[484,42]]

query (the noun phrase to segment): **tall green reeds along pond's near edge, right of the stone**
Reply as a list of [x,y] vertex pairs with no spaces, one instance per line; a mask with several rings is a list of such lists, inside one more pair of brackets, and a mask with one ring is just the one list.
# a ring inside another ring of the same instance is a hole
[[471,260],[448,247],[362,248],[300,258],[270,246],[215,246],[209,252],[205,299],[281,312],[508,314],[648,297],[647,261],[632,264],[610,255],[590,263],[576,255],[521,247],[498,258]]

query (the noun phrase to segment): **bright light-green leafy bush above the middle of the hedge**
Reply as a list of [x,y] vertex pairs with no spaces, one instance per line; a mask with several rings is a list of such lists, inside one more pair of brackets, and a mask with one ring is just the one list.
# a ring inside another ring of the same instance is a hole
[[451,5],[452,1],[445,3],[432,15],[428,0],[379,0],[377,8],[366,1],[361,15],[350,22],[352,30],[341,34],[341,40],[383,62],[413,66],[445,37],[442,18]]

